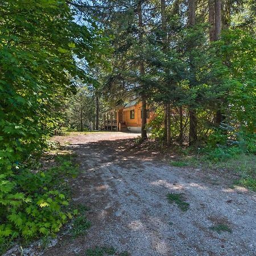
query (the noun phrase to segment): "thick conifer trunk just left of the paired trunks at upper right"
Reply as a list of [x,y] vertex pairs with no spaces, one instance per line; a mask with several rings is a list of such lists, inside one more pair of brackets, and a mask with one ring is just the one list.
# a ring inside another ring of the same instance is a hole
[[[195,0],[188,0],[188,26],[193,27],[196,23],[196,3]],[[192,44],[192,42],[190,42]],[[192,48],[192,46],[189,46]],[[195,82],[195,68],[193,67],[193,57],[190,57],[191,63],[191,75],[193,77],[190,81],[190,87],[193,86]],[[189,108],[189,145],[195,144],[197,141],[197,115],[196,110]]]

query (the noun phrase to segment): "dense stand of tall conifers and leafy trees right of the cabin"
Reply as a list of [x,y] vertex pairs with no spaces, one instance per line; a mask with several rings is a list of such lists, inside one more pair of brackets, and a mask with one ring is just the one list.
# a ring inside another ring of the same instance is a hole
[[[131,98],[140,98],[144,104],[155,102],[159,112],[164,112],[162,137],[167,144],[171,139],[201,143],[224,126],[237,136],[242,130],[254,133],[255,120],[250,113],[255,108],[255,3],[159,0],[76,4],[99,17],[98,23],[112,44],[112,72],[105,74],[104,94],[112,102]],[[246,44],[248,51],[243,48]],[[249,61],[242,63],[242,59]],[[248,109],[246,102],[250,102]],[[145,137],[143,130],[144,125]]]

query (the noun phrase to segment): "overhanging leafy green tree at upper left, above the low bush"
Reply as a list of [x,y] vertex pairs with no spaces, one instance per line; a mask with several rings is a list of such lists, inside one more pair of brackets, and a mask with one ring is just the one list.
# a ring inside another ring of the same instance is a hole
[[71,76],[89,79],[75,56],[95,63],[101,36],[73,22],[76,13],[62,0],[11,0],[0,10],[0,167],[10,170],[44,148],[75,92]]

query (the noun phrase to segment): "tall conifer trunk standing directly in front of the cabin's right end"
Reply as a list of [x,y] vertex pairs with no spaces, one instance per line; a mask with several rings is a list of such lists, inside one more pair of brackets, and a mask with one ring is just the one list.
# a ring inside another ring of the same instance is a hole
[[[142,23],[142,1],[138,2],[138,16],[139,16],[139,41],[142,44],[143,42],[143,23]],[[139,71],[141,76],[144,75],[144,63],[141,60],[139,63]],[[147,138],[147,130],[146,130],[146,125],[147,125],[147,100],[146,100],[146,95],[144,93],[144,84],[141,84],[142,87],[142,92],[141,92],[141,102],[142,102],[142,108],[141,108],[141,138],[146,139]]]

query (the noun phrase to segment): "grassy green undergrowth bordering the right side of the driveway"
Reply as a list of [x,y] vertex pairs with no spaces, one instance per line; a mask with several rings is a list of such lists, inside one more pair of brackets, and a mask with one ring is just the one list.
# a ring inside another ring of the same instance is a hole
[[240,176],[235,185],[256,191],[256,156],[241,147],[183,148],[177,149],[177,154],[179,158],[171,160],[171,166],[234,172]]

